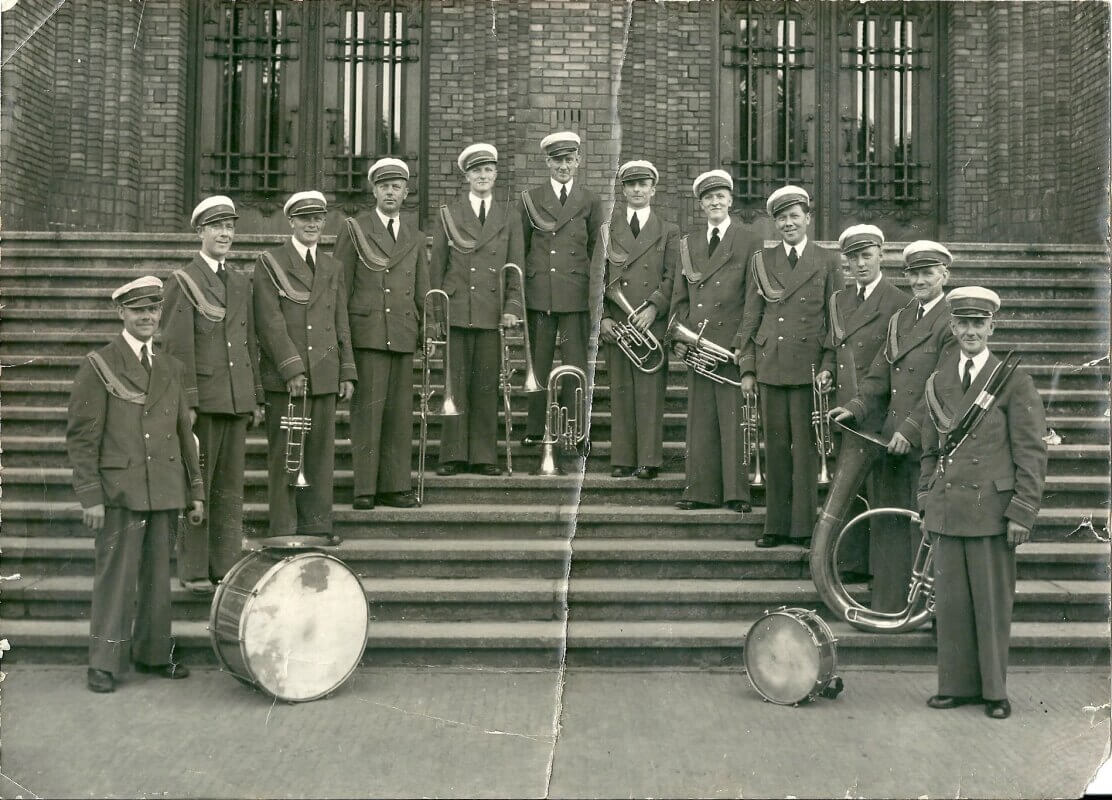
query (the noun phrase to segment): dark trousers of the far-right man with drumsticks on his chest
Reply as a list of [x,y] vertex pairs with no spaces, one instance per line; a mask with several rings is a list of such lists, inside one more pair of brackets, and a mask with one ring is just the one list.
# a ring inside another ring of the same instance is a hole
[[1003,535],[933,539],[939,694],[1004,700],[1015,551]]

